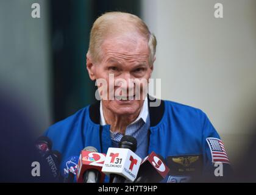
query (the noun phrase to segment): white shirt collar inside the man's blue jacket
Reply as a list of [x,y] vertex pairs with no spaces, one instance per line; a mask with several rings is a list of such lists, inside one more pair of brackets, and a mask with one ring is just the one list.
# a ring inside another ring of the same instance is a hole
[[[105,122],[105,118],[103,115],[103,109],[102,109],[102,101],[99,107],[99,111],[100,111],[100,119],[99,122],[101,124],[101,126],[105,126],[107,123]],[[148,108],[148,97],[145,98],[143,106],[140,110],[140,115],[138,115],[137,119],[135,119],[135,121],[133,121],[131,124],[137,122],[140,119],[143,119],[143,121],[146,123],[146,120],[148,118],[149,115],[149,108]]]

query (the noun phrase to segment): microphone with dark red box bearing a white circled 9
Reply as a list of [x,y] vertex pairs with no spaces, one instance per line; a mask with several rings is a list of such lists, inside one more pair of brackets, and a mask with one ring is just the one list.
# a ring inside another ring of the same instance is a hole
[[169,168],[161,155],[151,152],[141,162],[135,183],[158,183],[168,175]]

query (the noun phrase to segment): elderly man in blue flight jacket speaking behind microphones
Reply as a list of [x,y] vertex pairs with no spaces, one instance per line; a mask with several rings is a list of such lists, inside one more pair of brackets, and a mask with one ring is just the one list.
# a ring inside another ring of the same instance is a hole
[[[214,175],[215,162],[229,164],[223,143],[204,112],[171,101],[160,101],[158,107],[151,107],[143,87],[129,93],[137,82],[139,86],[145,84],[140,81],[148,83],[156,44],[155,36],[135,15],[109,12],[96,19],[91,29],[87,70],[90,79],[97,80],[98,88],[104,84],[99,79],[107,83],[99,90],[101,101],[45,132],[53,149],[62,153],[63,174],[69,169],[67,162],[73,159],[77,163],[74,159],[84,147],[93,146],[106,153],[108,147],[118,147],[123,135],[137,139],[135,153],[141,158],[152,151],[165,158],[170,168],[165,182],[185,181],[205,171]],[[119,82],[111,89],[110,76],[114,83],[121,80],[129,85]],[[118,90],[121,92],[116,93]],[[110,94],[114,94],[112,98]]]

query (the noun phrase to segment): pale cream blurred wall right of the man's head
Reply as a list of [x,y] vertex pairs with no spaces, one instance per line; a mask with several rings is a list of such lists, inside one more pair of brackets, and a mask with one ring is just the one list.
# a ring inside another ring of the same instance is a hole
[[[224,18],[214,16],[222,3]],[[142,1],[157,37],[162,98],[201,108],[234,163],[256,121],[256,1]]]

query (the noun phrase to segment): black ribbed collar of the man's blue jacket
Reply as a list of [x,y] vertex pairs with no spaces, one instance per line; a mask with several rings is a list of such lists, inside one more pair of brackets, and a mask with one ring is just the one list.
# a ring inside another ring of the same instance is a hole
[[[148,107],[149,107],[149,118],[150,118],[150,126],[154,127],[161,121],[163,117],[163,113],[165,112],[165,102],[161,100],[161,103],[158,107],[149,106],[151,102],[160,101],[159,99],[152,98],[148,95]],[[96,101],[94,104],[91,104],[89,107],[90,119],[96,124],[99,124],[101,113],[100,102]]]

